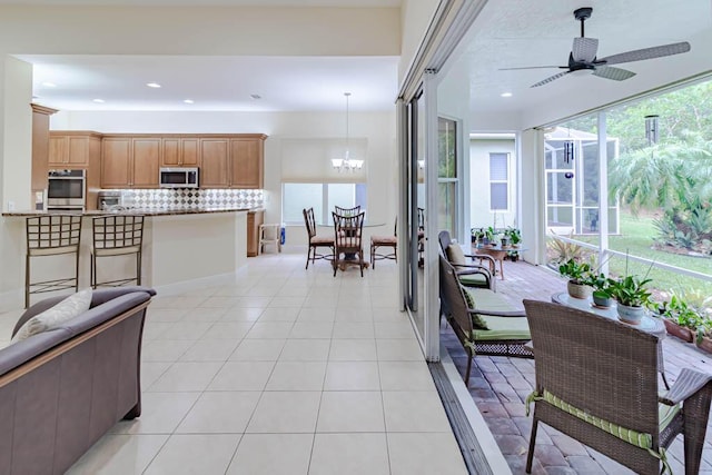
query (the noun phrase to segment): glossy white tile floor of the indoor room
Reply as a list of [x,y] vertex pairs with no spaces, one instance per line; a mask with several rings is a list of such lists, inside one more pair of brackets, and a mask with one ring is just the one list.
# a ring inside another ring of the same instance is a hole
[[[395,264],[333,277],[304,259],[264,255],[233,285],[157,296],[142,415],[69,473],[465,474]],[[2,338],[18,315],[0,316]]]

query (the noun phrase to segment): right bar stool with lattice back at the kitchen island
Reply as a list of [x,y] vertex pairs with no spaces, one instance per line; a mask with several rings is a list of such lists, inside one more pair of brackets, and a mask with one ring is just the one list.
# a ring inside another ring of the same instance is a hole
[[[92,220],[93,246],[91,248],[91,287],[118,287],[136,280],[141,285],[141,245],[144,241],[144,216],[100,216]],[[136,255],[136,275],[97,281],[97,259]]]

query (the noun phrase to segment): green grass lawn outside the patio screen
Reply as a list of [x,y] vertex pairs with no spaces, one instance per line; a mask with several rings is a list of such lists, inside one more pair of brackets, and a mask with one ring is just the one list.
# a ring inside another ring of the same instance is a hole
[[[712,258],[710,257],[685,256],[653,249],[653,238],[656,235],[657,232],[653,226],[653,218],[651,216],[641,215],[635,217],[621,211],[621,235],[610,236],[609,247],[613,250],[629,253],[631,256],[644,257],[655,263],[664,263],[671,266],[712,275]],[[589,238],[578,236],[576,238],[592,244],[599,241],[597,237]],[[613,257],[609,260],[609,269],[612,275],[625,275],[625,258]],[[636,274],[639,276],[644,276],[649,273],[650,268],[650,265],[630,260],[627,266],[629,274]],[[649,277],[653,279],[650,287],[657,290],[669,291],[673,289],[679,293],[696,289],[708,296],[712,296],[712,283],[695,277],[657,268],[650,269]]]

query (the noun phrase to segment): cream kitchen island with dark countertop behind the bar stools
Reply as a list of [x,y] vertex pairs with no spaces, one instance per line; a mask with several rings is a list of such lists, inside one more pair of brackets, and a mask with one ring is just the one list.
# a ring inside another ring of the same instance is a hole
[[[105,215],[144,215],[142,285],[160,294],[176,294],[201,285],[229,283],[247,260],[247,212],[235,208],[126,209],[113,212],[81,212],[82,230],[79,256],[79,287],[89,286],[92,244],[91,218]],[[71,212],[70,212],[71,214]],[[2,281],[0,311],[20,308],[24,291],[24,222],[43,211],[3,212]],[[67,275],[73,266],[68,255],[32,259],[32,280]],[[105,277],[120,277],[135,268],[129,256],[102,259],[98,264]],[[131,267],[134,266],[134,267]],[[51,294],[48,294],[51,295]],[[47,296],[47,295],[46,295]],[[32,301],[46,296],[33,295]]]

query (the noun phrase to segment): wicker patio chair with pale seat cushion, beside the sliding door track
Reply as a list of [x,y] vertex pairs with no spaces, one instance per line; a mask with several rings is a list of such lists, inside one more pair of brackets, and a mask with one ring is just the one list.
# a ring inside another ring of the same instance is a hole
[[533,358],[525,346],[531,337],[524,311],[514,309],[492,290],[464,287],[447,259],[439,256],[439,261],[441,313],[467,352],[465,385],[469,383],[475,355]]

